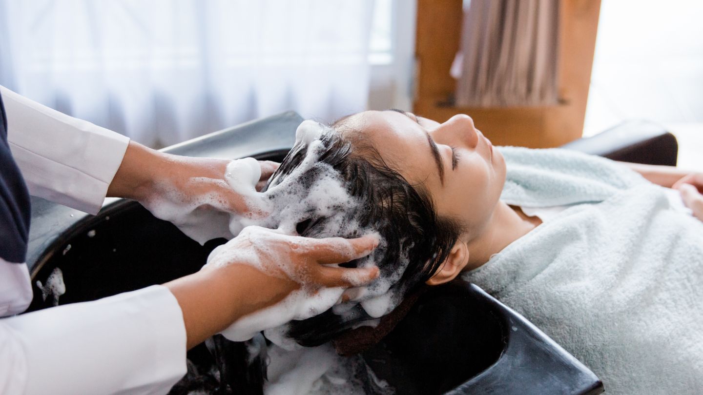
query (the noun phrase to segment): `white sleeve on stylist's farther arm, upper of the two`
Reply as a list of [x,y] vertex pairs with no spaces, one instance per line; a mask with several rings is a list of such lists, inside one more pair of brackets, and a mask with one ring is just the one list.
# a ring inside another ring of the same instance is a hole
[[30,194],[96,214],[129,138],[0,86],[8,143]]

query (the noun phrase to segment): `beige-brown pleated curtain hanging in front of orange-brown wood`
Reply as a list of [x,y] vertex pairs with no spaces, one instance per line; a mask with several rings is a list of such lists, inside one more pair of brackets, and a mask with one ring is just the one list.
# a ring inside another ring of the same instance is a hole
[[471,0],[452,67],[456,104],[557,103],[559,0]]

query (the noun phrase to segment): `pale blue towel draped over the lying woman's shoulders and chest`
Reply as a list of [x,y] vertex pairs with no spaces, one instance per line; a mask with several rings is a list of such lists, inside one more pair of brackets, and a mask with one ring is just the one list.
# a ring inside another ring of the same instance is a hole
[[573,206],[463,278],[579,358],[607,394],[703,393],[703,224],[610,161],[501,152],[508,203]]

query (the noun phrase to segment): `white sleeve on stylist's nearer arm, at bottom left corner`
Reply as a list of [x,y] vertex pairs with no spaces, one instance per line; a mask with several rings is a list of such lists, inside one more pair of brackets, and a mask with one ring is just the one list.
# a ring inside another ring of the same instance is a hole
[[165,394],[186,328],[162,285],[0,319],[1,394]]

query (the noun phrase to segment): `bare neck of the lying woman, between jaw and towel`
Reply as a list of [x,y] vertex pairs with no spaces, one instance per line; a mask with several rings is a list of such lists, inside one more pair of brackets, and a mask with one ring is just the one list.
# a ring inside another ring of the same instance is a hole
[[536,216],[527,216],[520,207],[512,207],[498,201],[491,220],[481,235],[469,242],[469,261],[464,270],[472,270],[485,264],[493,254],[498,254],[511,242],[526,235],[541,224]]

